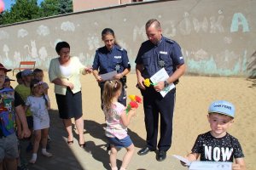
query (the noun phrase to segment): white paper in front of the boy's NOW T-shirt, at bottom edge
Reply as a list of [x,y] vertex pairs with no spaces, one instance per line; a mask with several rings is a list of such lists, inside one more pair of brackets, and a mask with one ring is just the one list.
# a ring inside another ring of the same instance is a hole
[[232,162],[228,161],[192,161],[189,170],[231,170]]

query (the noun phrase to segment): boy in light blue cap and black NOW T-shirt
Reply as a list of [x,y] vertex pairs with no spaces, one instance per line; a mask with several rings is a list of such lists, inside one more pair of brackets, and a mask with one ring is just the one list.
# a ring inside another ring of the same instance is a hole
[[[211,131],[200,134],[186,156],[189,161],[196,161],[200,156],[201,161],[231,161],[233,170],[245,170],[245,161],[241,145],[235,137],[227,133],[234,122],[235,107],[230,102],[218,100],[213,102],[208,109],[208,122]],[[183,162],[182,162],[183,164]]]

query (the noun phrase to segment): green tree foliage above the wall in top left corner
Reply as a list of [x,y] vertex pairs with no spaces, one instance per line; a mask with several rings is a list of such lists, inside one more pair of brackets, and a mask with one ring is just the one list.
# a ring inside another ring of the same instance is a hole
[[13,3],[11,8],[0,14],[0,25],[73,12],[72,0],[44,0],[40,4],[37,0],[10,1]]

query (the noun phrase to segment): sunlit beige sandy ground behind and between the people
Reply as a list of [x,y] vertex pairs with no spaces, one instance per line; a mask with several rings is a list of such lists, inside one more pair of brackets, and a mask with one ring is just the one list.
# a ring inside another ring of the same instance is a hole
[[[45,82],[49,83],[45,72]],[[11,73],[8,74],[12,77]],[[15,77],[12,77],[15,78]],[[100,108],[100,90],[92,75],[81,76],[84,119],[102,124],[104,116]],[[135,74],[128,76],[127,94],[141,95],[135,87]],[[15,87],[16,82],[12,82]],[[49,83],[49,98],[51,107],[56,110],[54,86]],[[225,99],[236,105],[235,123],[229,133],[239,139],[245,154],[247,169],[256,169],[256,84],[255,80],[232,77],[189,77],[184,76],[177,85],[177,101],[173,119],[172,148],[168,156],[173,154],[184,156],[191,150],[198,134],[207,132],[210,127],[207,122],[208,105],[217,99]],[[143,105],[137,110],[137,116],[129,128],[141,141],[137,147],[142,147],[146,133],[143,121]],[[54,126],[53,124],[51,126]],[[85,137],[86,138],[86,137]]]

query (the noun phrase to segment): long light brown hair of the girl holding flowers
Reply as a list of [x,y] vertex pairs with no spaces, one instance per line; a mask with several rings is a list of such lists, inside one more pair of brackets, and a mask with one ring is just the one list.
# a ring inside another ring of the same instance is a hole
[[104,109],[110,110],[113,98],[122,89],[122,83],[119,80],[110,80],[105,82],[102,95]]

